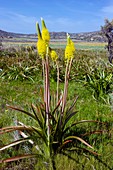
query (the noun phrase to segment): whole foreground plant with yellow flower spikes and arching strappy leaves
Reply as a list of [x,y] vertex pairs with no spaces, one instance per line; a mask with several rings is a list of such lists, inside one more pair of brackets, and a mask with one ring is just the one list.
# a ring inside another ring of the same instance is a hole
[[[75,46],[67,34],[67,45],[65,48],[65,81],[64,90],[61,93],[59,91],[59,64],[58,55],[55,50],[51,49],[50,34],[46,27],[44,20],[41,18],[42,31],[40,31],[39,24],[36,23],[36,29],[38,34],[37,50],[38,54],[42,59],[42,70],[43,70],[43,99],[37,105],[31,105],[31,112],[19,109],[17,107],[9,106],[9,108],[28,115],[35,121],[36,126],[28,126],[22,122],[18,122],[17,126],[4,127],[0,129],[0,134],[18,131],[20,139],[11,142],[0,148],[0,151],[9,149],[10,147],[19,145],[24,142],[28,142],[33,146],[32,153],[18,155],[15,157],[3,159],[0,163],[8,163],[17,161],[24,158],[36,157],[38,161],[42,162],[43,166],[52,167],[56,169],[55,157],[57,154],[62,154],[73,159],[69,152],[82,150],[83,152],[89,152],[94,155],[98,155],[94,148],[87,143],[80,136],[72,135],[70,132],[72,129],[75,130],[78,124],[85,122],[95,122],[94,120],[81,120],[72,121],[72,118],[76,115],[75,104],[77,101],[76,97],[70,107],[66,107],[67,95],[68,95],[68,84],[69,76],[72,66],[72,61],[75,56]],[[57,67],[57,87],[56,87],[56,98],[55,103],[52,102],[52,96],[50,94],[50,80],[49,80],[49,62],[52,60],[56,63]],[[18,113],[17,112],[17,113]],[[93,132],[93,133],[96,133]],[[90,149],[87,149],[90,148]],[[41,164],[41,166],[42,166]],[[42,168],[42,167],[41,167]],[[45,167],[47,168],[47,167]],[[39,167],[40,169],[40,167]]]

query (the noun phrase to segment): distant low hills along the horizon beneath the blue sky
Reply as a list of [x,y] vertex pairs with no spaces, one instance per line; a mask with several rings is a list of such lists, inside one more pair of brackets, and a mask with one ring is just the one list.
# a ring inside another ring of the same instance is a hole
[[[66,32],[50,32],[51,40],[65,40]],[[74,41],[94,41],[105,42],[105,37],[102,36],[101,31],[84,32],[84,33],[70,33],[71,38]],[[35,42],[37,40],[36,34],[19,34],[0,30],[0,39],[2,41],[30,41]]]

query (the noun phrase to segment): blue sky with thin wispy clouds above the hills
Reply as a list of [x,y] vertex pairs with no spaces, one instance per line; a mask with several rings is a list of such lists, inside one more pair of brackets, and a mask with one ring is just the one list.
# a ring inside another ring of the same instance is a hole
[[51,32],[97,31],[113,19],[113,0],[0,0],[2,30],[36,33],[41,17]]

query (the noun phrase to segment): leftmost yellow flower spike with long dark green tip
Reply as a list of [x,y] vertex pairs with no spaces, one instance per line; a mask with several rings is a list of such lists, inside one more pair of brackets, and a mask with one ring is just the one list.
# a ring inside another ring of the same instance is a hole
[[38,22],[36,23],[36,30],[37,30],[37,34],[38,34],[38,42],[37,42],[38,54],[42,58],[45,58],[47,45],[46,45],[46,42],[42,39],[42,35],[41,35],[41,31],[40,31]]

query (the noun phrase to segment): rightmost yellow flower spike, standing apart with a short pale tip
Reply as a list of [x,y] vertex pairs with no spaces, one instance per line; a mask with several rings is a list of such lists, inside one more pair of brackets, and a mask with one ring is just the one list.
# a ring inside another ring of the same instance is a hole
[[65,59],[70,60],[74,57],[75,54],[75,46],[73,41],[70,39],[70,35],[67,34],[67,45],[65,48]]

